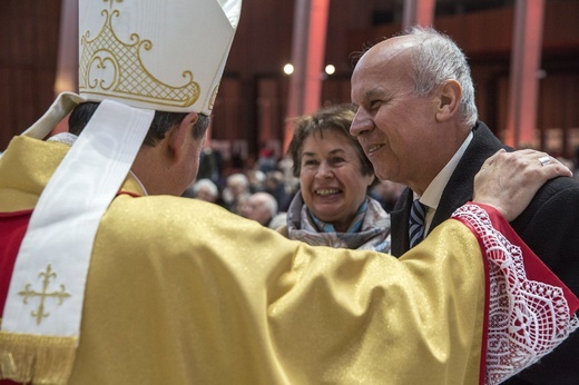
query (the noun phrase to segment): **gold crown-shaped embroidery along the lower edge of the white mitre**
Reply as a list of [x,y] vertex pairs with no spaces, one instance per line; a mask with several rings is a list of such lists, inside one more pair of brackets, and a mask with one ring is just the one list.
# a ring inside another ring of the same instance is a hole
[[150,40],[141,40],[138,33],[131,33],[129,43],[120,41],[112,29],[112,17],[119,17],[120,11],[112,10],[114,0],[104,0],[108,1],[110,11],[101,11],[106,21],[100,32],[90,39],[87,31],[81,38],[80,92],[175,107],[188,107],[197,101],[200,87],[193,80],[192,71],[183,72],[187,80],[184,86],[166,85],[143,65],[140,52],[153,48]]

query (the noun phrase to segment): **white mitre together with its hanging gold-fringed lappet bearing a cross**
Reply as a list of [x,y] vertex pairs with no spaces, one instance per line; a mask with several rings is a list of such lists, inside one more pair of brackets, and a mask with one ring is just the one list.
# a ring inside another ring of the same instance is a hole
[[0,329],[2,377],[66,384],[100,218],[155,110],[210,113],[241,6],[242,0],[79,1],[80,92],[61,93],[22,135],[45,138],[79,102],[100,106],[30,218]]

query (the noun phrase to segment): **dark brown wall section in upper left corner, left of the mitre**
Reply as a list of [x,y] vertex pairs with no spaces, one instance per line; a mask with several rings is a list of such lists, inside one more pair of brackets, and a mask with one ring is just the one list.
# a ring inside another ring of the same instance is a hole
[[0,1],[0,150],[53,101],[60,0]]

